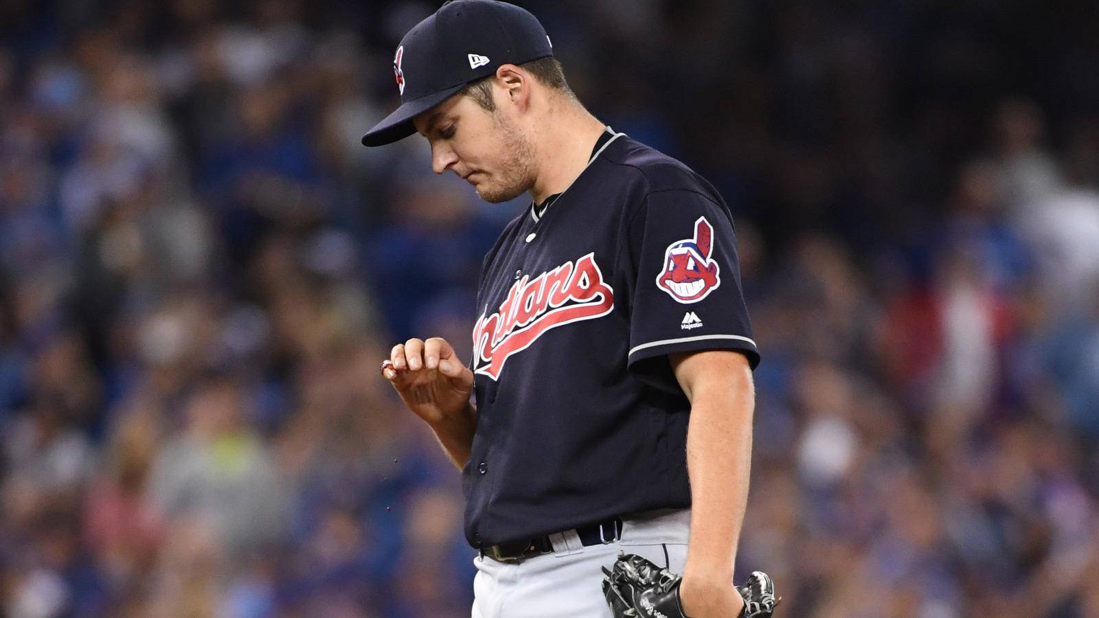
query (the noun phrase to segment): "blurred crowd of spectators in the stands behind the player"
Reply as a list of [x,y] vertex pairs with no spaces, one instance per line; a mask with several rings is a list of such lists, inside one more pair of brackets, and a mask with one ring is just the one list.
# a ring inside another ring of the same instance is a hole
[[[521,3],[733,208],[739,572],[788,616],[1099,616],[1099,12]],[[377,367],[468,355],[524,203],[359,144],[434,8],[0,3],[0,614],[468,616],[458,474]]]

